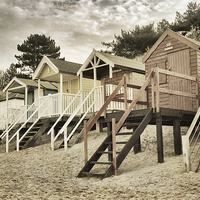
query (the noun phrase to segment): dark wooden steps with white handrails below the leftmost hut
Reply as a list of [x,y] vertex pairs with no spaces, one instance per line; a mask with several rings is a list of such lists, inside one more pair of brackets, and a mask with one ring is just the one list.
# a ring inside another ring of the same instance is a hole
[[32,146],[49,127],[49,120],[39,120],[19,143],[19,150]]

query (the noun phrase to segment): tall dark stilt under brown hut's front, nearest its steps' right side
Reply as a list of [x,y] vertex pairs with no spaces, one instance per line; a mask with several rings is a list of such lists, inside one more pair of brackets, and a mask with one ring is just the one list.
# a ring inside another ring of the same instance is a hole
[[160,113],[157,113],[156,116],[156,133],[157,133],[158,163],[163,163],[164,156],[163,156],[162,116]]

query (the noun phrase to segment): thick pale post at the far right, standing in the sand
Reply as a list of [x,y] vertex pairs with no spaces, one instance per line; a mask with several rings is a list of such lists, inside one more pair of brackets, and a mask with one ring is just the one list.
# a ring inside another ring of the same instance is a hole
[[182,145],[183,145],[183,161],[185,164],[185,170],[189,172],[191,170],[190,166],[190,144],[187,135],[182,135]]

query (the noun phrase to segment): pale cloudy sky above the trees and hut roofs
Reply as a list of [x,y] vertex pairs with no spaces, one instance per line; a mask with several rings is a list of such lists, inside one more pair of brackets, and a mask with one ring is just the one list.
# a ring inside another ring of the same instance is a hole
[[61,57],[82,64],[121,30],[174,22],[176,11],[183,14],[189,2],[200,0],[1,0],[0,70],[17,63],[15,55],[22,54],[17,45],[30,34],[50,37]]

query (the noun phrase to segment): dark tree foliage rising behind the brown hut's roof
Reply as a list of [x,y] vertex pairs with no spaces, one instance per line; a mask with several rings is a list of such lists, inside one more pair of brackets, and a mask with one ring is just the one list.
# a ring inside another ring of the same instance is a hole
[[114,35],[112,42],[102,42],[107,48],[104,52],[131,59],[143,55],[167,28],[200,41],[200,4],[188,3],[186,12],[176,12],[175,21],[171,24],[162,19],[157,26],[150,23],[142,27],[137,25],[129,31],[121,30],[121,35]]

